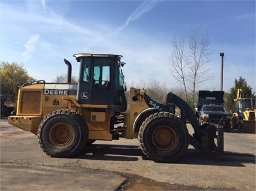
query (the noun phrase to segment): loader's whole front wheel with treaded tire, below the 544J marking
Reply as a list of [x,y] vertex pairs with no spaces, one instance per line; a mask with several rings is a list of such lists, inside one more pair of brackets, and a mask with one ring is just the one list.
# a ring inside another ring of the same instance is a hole
[[143,153],[154,162],[176,162],[189,145],[186,126],[168,112],[147,117],[138,138]]

